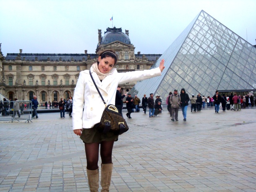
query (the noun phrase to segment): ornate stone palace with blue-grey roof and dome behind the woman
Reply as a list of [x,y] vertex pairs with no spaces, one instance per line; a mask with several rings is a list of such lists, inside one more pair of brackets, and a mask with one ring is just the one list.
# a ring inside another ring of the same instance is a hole
[[[45,54],[8,53],[6,57],[1,52],[0,44],[0,93],[8,99],[31,100],[37,95],[38,101],[60,101],[73,96],[79,73],[90,69],[97,62],[99,52],[115,50],[118,62],[115,65],[118,72],[149,69],[161,57],[161,54],[134,53],[129,31],[123,33],[121,28],[107,28],[102,36],[98,29],[96,53],[83,54]],[[131,90],[136,82],[120,85],[123,93]]]

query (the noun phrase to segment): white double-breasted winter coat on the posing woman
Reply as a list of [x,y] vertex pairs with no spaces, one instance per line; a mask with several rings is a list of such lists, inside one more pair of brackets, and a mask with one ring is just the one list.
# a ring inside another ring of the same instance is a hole
[[[116,68],[113,68],[110,70],[110,75],[106,76],[101,82],[98,75],[93,72],[92,67],[90,70],[107,105],[115,105],[115,95],[118,84],[144,80],[161,75],[159,67],[151,70],[126,73],[118,73]],[[73,96],[73,130],[93,127],[100,122],[104,109],[105,105],[91,80],[89,70],[81,71]]]

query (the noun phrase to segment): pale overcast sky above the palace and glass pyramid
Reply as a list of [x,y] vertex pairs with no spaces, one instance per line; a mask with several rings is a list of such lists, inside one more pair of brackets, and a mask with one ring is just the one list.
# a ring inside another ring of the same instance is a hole
[[256,0],[0,0],[0,43],[4,56],[95,53],[113,15],[136,53],[162,54],[201,10],[256,44]]

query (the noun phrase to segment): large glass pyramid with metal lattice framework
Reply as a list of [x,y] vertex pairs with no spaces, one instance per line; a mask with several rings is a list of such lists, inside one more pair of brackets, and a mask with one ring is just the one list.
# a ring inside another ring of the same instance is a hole
[[139,81],[130,91],[142,98],[150,93],[165,99],[176,88],[213,96],[216,90],[256,91],[256,47],[219,23],[204,10],[151,67],[165,59],[159,77]]

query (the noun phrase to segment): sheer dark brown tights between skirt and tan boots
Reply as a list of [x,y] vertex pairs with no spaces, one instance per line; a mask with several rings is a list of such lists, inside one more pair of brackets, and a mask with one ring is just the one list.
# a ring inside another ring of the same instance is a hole
[[112,163],[112,149],[114,141],[102,141],[101,143],[85,143],[87,169],[98,169],[99,145],[102,164]]

